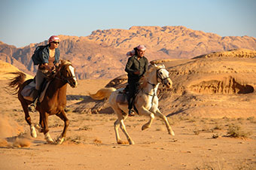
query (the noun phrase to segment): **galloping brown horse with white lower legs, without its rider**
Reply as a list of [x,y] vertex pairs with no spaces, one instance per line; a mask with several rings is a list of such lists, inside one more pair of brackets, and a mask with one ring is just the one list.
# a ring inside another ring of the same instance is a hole
[[[61,120],[65,122],[63,132],[56,139],[57,144],[62,144],[66,137],[66,131],[69,126],[69,120],[66,117],[66,112],[64,111],[66,107],[66,90],[67,83],[71,87],[77,87],[78,81],[75,78],[75,68],[73,68],[72,63],[66,60],[61,60],[58,71],[53,74],[53,80],[50,81],[50,84],[45,93],[44,99],[36,106],[36,110],[40,113],[39,124],[34,126],[31,123],[31,118],[29,116],[28,106],[32,103],[23,98],[21,91],[23,88],[29,84],[32,79],[26,80],[26,74],[22,72],[14,72],[12,74],[17,74],[17,77],[11,79],[11,82],[8,83],[8,87],[13,89],[13,94],[18,94],[18,99],[23,107],[25,113],[26,122],[30,126],[30,133],[33,138],[36,138],[35,128],[39,132],[44,132],[44,138],[47,142],[53,143],[53,139],[50,137],[48,129],[48,116],[56,114]],[[24,82],[25,81],[25,82]]]

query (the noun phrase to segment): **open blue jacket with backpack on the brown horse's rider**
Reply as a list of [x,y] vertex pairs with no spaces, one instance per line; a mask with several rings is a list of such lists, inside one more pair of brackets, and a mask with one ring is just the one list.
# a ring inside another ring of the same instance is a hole
[[[39,62],[38,64],[44,64],[44,63],[49,63],[49,45],[45,46],[42,50],[38,51],[38,56],[37,57],[37,61]],[[57,62],[59,62],[59,48],[55,49],[55,60],[54,60],[54,64],[56,64]]]

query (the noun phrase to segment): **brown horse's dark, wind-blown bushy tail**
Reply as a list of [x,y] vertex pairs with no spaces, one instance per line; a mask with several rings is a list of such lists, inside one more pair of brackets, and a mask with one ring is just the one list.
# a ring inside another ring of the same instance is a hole
[[14,74],[17,75],[14,78],[11,78],[10,82],[8,83],[8,90],[11,91],[11,94],[13,95],[17,95],[17,93],[20,90],[21,85],[24,83],[24,81],[26,80],[26,74],[24,74],[21,71],[17,71],[17,72],[10,72],[8,74]]

